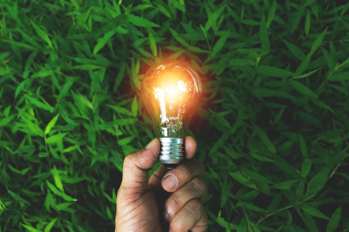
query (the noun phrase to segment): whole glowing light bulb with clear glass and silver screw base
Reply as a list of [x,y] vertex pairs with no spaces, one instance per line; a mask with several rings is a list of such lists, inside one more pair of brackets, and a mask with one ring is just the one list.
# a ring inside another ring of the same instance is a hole
[[144,75],[141,94],[166,168],[175,168],[184,157],[184,138],[201,93],[198,72],[183,61],[164,59]]

